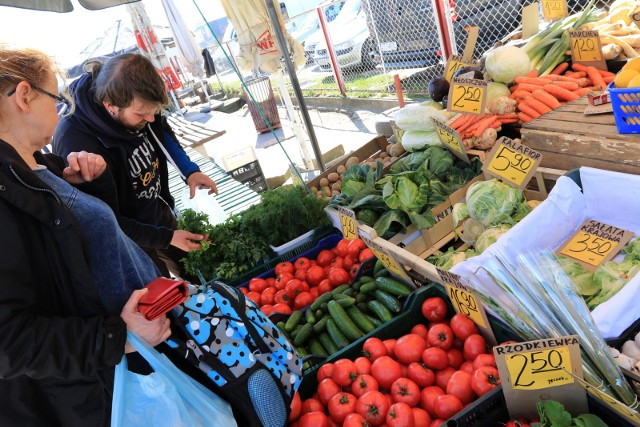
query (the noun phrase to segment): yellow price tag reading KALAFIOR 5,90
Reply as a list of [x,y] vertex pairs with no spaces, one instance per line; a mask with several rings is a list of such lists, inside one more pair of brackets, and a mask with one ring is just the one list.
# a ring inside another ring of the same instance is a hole
[[535,173],[542,154],[502,137],[493,147],[482,170],[514,187],[524,189]]

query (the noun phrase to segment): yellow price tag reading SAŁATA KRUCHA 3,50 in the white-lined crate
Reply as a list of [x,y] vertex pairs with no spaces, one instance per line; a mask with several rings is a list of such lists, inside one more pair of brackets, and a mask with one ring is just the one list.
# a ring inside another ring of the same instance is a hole
[[632,237],[631,231],[589,219],[580,225],[558,253],[594,270],[620,252]]

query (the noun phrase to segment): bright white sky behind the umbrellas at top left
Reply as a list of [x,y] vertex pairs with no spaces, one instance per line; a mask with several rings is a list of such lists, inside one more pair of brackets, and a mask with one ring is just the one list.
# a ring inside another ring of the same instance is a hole
[[[191,29],[204,24],[197,7],[208,21],[224,16],[218,0],[173,1]],[[116,25],[117,20],[131,26],[126,5],[94,11],[83,8],[76,0],[72,3],[74,10],[69,13],[0,6],[0,42],[39,49],[53,56],[60,65],[71,66],[86,59],[79,58],[79,52]],[[161,0],[142,3],[154,25],[169,25]]]

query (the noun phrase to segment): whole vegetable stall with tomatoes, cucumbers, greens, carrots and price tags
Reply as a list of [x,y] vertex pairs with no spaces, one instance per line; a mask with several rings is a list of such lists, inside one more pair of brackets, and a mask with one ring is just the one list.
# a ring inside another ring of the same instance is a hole
[[448,58],[389,140],[183,215],[192,272],[303,357],[290,425],[640,425],[638,13],[590,1]]

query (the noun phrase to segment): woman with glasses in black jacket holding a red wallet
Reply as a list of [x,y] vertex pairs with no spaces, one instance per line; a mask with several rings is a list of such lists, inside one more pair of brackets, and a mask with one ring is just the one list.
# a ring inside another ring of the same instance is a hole
[[[109,425],[127,329],[154,346],[170,335],[165,316],[147,321],[137,310],[146,290],[134,289],[158,276],[152,261],[108,205],[74,187],[108,178],[104,160],[71,153],[65,168],[40,152],[58,123],[56,104],[65,101],[56,75],[42,52],[0,45],[3,426]],[[106,282],[121,301],[118,313],[106,308],[99,289]]]

